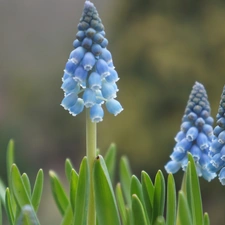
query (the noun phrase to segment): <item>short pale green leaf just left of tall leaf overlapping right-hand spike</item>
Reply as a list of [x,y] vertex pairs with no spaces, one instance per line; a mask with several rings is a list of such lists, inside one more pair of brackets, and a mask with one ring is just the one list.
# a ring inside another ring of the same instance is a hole
[[178,208],[177,208],[177,223],[176,225],[193,225],[191,213],[188,207],[188,202],[183,191],[178,194]]

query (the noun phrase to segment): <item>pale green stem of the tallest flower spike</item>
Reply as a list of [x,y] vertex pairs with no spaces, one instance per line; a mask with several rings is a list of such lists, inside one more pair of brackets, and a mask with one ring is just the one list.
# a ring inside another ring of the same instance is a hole
[[88,158],[89,174],[90,174],[90,193],[88,203],[88,220],[87,225],[95,225],[95,202],[94,202],[94,182],[93,182],[93,163],[96,157],[96,123],[91,122],[89,110],[86,110],[86,154]]

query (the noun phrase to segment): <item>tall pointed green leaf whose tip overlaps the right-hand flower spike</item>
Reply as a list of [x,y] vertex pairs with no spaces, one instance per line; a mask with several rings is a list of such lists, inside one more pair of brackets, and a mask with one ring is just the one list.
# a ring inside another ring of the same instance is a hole
[[195,162],[191,154],[188,155],[188,159],[190,164],[188,166],[191,168],[191,199],[192,199],[192,216],[193,216],[193,224],[194,225],[203,225],[203,210],[202,210],[202,198],[201,191],[199,186],[199,179],[197,175],[197,171],[195,168]]

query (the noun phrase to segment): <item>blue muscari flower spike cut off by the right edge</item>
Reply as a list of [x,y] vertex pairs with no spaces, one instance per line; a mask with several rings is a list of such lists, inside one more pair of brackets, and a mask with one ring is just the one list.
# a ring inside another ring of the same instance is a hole
[[209,148],[212,158],[208,165],[208,170],[211,172],[220,171],[218,175],[219,180],[222,185],[225,185],[225,86],[216,119],[217,125],[213,130],[214,137]]

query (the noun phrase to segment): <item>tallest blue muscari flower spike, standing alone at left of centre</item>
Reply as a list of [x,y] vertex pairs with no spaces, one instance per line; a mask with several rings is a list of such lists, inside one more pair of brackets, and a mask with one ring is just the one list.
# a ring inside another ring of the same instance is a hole
[[104,103],[108,112],[115,116],[123,110],[115,100],[119,77],[107,45],[98,12],[93,3],[86,1],[61,86],[65,93],[61,105],[73,116],[86,107],[90,108],[92,122],[100,122]]

